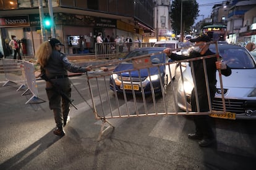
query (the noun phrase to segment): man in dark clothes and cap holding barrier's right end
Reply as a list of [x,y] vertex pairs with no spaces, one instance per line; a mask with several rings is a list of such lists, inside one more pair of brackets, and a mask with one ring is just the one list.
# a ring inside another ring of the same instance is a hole
[[[190,52],[189,56],[185,55],[177,55],[171,53],[171,49],[166,48],[164,52],[169,55],[172,60],[186,60],[192,59],[195,57],[203,57],[205,55],[213,55],[214,52],[211,52],[209,49],[210,44],[207,42],[211,41],[211,38],[207,35],[198,36],[195,39],[190,39],[190,42],[195,42],[197,47],[195,47],[194,51]],[[216,57],[211,57],[205,59],[207,66],[207,76],[208,76],[208,84],[210,89],[210,97],[211,100],[215,97],[216,92],[216,69],[221,69],[221,74],[224,76],[231,75],[231,68],[228,65],[224,64],[221,61],[217,61]],[[198,94],[198,103],[201,112],[209,111],[208,106],[208,97],[207,97],[207,86],[205,84],[205,73],[203,70],[203,60],[195,60],[194,64],[194,73],[192,75],[195,77],[196,86],[197,86],[197,94]],[[197,111],[197,104],[195,99],[195,90],[192,90],[191,94],[191,107],[192,111]],[[199,140],[198,145],[200,147],[208,147],[208,145],[213,144],[215,141],[215,137],[213,131],[210,126],[209,116],[208,115],[195,115],[194,124],[195,124],[195,132],[192,134],[188,134],[189,139]]]

